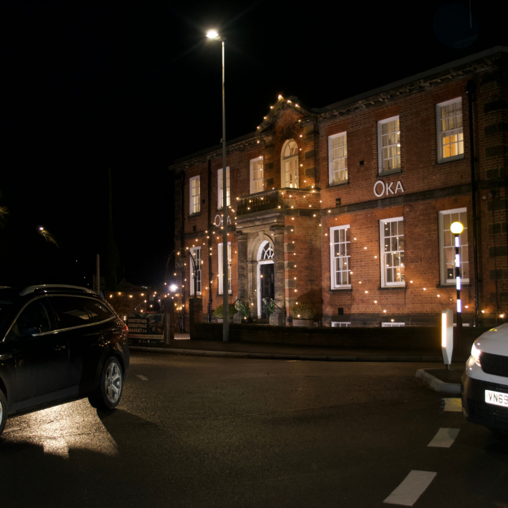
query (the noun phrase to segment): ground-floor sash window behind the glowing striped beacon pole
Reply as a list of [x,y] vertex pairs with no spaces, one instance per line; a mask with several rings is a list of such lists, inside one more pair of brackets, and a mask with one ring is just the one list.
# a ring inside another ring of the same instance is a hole
[[455,235],[450,231],[454,222],[460,222],[464,230],[459,236],[461,281],[469,282],[469,259],[467,244],[467,210],[455,208],[439,212],[439,271],[441,284],[456,284],[455,278]]

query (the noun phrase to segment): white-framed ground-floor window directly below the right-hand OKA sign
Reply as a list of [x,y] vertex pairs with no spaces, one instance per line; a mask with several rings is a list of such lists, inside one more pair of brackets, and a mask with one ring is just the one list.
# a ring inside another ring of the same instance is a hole
[[394,217],[379,221],[381,286],[405,284],[404,218]]

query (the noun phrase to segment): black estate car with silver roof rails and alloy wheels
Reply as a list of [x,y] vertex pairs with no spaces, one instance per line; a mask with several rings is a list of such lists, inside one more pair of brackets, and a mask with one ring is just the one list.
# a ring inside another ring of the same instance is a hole
[[128,329],[103,298],[0,287],[0,433],[7,418],[84,397],[114,409],[128,370]]

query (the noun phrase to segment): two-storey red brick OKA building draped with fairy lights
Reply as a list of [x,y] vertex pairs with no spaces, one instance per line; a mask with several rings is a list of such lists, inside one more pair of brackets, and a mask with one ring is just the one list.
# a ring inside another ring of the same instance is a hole
[[[480,322],[504,321],[507,159],[505,47],[324,108],[279,96],[255,132],[227,144],[230,302],[259,316],[264,297],[287,311],[312,302],[323,326],[435,325],[456,305],[450,224],[460,220],[463,321],[473,320],[475,287]],[[169,169],[175,242],[199,261],[198,296],[213,309],[223,292],[221,146]]]

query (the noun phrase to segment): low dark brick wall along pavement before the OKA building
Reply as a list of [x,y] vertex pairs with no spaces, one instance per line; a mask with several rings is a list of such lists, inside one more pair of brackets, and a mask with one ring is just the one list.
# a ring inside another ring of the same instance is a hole
[[[190,338],[222,340],[222,324],[193,323]],[[487,328],[454,329],[454,354],[469,356],[474,339]],[[270,325],[230,324],[230,339],[243,342],[335,346],[343,348],[436,350],[441,351],[441,329],[438,327],[393,328],[295,328]]]

